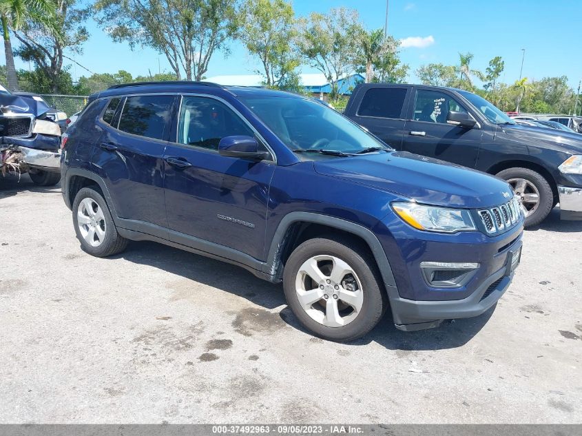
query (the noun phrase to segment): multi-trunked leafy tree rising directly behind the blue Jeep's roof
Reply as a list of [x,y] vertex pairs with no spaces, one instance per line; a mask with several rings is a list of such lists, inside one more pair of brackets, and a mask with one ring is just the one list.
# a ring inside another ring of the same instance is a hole
[[165,54],[178,80],[200,81],[216,50],[228,52],[236,0],[97,0],[98,22],[114,41]]

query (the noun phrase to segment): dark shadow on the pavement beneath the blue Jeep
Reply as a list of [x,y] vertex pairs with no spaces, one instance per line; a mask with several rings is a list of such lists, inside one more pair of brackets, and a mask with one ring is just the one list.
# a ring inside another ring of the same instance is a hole
[[[123,258],[136,264],[156,267],[245,298],[267,310],[287,304],[280,284],[260,280],[240,267],[156,242],[132,241],[126,251],[112,258]],[[415,332],[396,329],[388,310],[373,331],[350,344],[361,346],[377,342],[386,349],[405,351],[452,349],[469,342],[487,323],[494,310],[492,308],[476,318],[445,321],[436,329]],[[279,315],[293,329],[311,335],[298,322],[289,307],[284,307]]]

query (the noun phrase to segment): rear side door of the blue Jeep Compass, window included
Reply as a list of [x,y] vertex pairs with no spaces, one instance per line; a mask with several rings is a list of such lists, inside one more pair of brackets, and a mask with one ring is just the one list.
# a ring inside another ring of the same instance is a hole
[[127,225],[152,224],[147,232],[164,238],[163,154],[175,100],[174,95],[128,96],[113,116],[107,108],[103,135],[93,156],[116,214],[132,220]]

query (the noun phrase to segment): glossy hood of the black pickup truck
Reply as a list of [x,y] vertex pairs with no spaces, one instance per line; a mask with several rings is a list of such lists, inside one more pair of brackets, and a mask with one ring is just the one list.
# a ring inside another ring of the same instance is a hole
[[526,145],[543,146],[570,154],[582,154],[582,134],[579,133],[525,125],[507,124],[499,127],[508,136]]

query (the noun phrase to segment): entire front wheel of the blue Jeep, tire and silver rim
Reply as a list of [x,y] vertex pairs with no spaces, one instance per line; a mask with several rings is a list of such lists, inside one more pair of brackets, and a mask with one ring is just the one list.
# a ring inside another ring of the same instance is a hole
[[287,303],[301,324],[340,342],[360,338],[380,321],[387,306],[381,283],[375,260],[344,238],[303,242],[283,273]]

